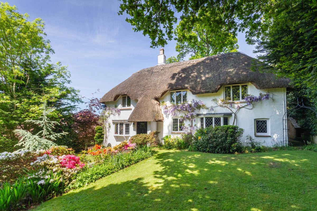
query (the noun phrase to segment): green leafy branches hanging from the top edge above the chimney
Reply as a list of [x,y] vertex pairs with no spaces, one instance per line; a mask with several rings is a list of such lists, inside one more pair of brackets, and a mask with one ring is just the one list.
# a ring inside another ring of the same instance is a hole
[[216,37],[223,30],[233,35],[246,30],[248,41],[254,43],[261,36],[258,26],[266,18],[264,14],[273,11],[274,5],[272,0],[122,0],[119,15],[128,14],[126,21],[134,31],[150,37],[151,47],[165,46],[172,40],[179,20],[181,28],[198,24],[212,30]]

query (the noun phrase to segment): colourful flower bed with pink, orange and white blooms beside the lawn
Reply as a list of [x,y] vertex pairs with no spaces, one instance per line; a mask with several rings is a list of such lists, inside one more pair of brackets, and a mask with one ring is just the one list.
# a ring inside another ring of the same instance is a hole
[[95,145],[84,151],[93,157],[94,162],[73,153],[72,149],[63,146],[46,151],[1,153],[0,211],[40,203],[152,155],[151,149],[136,149],[135,144],[126,141],[113,148]]

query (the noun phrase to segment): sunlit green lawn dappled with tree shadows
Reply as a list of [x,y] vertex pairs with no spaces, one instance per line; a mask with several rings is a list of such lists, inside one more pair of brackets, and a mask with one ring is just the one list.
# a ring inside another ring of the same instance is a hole
[[152,158],[34,210],[317,210],[317,154],[209,154]]

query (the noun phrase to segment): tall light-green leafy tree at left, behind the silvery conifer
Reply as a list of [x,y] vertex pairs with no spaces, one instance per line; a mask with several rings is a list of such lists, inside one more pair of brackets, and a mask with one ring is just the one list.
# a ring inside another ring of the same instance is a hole
[[67,67],[50,64],[54,51],[44,22],[40,18],[30,22],[27,14],[16,9],[0,3],[0,135],[13,140],[13,130],[28,130],[23,122],[41,116],[43,103],[54,108],[50,117],[61,121],[71,116],[74,103],[80,101],[78,90],[67,86]]

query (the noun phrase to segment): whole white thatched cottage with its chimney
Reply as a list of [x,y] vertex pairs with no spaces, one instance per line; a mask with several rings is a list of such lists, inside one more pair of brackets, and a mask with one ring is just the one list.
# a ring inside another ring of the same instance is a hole
[[283,124],[287,128],[283,115],[289,80],[251,71],[253,62],[253,58],[236,52],[165,64],[161,49],[158,65],[134,73],[101,98],[101,103],[121,110],[120,116],[110,119],[110,133],[104,144],[114,146],[135,134],[155,130],[160,132],[160,138],[184,133],[181,118],[165,115],[162,101],[170,105],[195,99],[214,106],[213,111],[197,111],[197,127],[208,127],[233,123],[233,113],[216,107],[212,99],[234,96],[235,105],[245,105],[244,94],[258,96],[267,92],[273,94],[273,100],[259,102],[251,110],[240,109],[236,113],[237,126],[244,129],[242,140],[251,135],[266,145],[283,141],[287,135],[283,131]]

